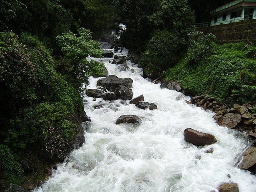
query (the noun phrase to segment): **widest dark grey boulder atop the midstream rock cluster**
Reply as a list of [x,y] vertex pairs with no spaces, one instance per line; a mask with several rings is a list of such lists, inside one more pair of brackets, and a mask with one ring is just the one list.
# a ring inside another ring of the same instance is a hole
[[105,78],[98,80],[97,86],[103,86],[107,90],[114,92],[116,88],[120,85],[126,86],[130,88],[132,86],[132,79],[131,78],[118,78],[115,75],[109,75]]

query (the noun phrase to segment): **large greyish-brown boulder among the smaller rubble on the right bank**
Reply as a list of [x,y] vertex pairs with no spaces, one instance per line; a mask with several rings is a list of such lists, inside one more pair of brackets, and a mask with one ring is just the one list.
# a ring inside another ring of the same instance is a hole
[[220,126],[226,126],[227,128],[234,128],[242,121],[242,115],[227,113],[218,120]]

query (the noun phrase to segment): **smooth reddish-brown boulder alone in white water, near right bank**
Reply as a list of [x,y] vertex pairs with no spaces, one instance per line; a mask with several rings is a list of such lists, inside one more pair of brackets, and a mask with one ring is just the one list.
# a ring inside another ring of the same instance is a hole
[[186,128],[183,133],[186,142],[192,143],[196,146],[210,145],[217,142],[212,134],[199,132],[197,130]]

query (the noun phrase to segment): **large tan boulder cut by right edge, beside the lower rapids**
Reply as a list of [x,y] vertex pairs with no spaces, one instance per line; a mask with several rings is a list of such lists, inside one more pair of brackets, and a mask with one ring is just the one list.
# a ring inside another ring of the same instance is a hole
[[240,162],[238,168],[248,169],[256,164],[256,147],[248,148],[238,160]]

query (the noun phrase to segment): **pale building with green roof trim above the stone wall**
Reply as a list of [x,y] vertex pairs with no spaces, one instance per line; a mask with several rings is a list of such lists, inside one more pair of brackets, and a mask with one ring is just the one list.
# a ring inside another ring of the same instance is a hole
[[211,26],[256,19],[256,0],[235,0],[210,12]]

